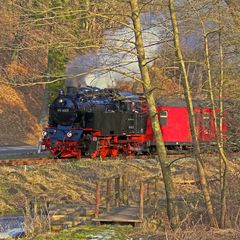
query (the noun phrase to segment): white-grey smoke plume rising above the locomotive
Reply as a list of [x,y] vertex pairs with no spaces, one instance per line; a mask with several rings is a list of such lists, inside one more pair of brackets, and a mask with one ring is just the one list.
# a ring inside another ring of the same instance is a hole
[[[151,59],[155,58],[159,52],[158,36],[161,36],[165,30],[157,26],[157,22],[160,22],[158,14],[144,13],[141,18],[146,56],[151,62]],[[67,65],[66,75],[69,76],[65,82],[67,87],[78,88],[86,85],[100,88],[114,87],[116,81],[132,80],[123,76],[121,72],[140,74],[136,55],[129,53],[134,49],[132,43],[134,42],[134,33],[124,27],[117,31],[106,31],[104,36],[106,40],[102,44],[102,49],[92,54],[79,56]],[[129,52],[119,51],[114,47],[127,49]],[[116,69],[116,71],[112,69]],[[84,73],[86,75],[82,75]]]

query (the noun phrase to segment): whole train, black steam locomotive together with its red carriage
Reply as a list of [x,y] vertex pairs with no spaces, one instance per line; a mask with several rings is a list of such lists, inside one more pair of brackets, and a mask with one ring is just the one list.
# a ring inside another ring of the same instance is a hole
[[[158,99],[156,103],[165,145],[192,146],[185,101]],[[193,105],[199,141],[214,142],[211,108],[206,101],[194,101]],[[224,132],[226,128],[224,123]],[[60,90],[50,105],[49,124],[42,135],[42,149],[61,158],[143,154],[156,147],[146,100],[117,89],[84,87],[67,94]]]

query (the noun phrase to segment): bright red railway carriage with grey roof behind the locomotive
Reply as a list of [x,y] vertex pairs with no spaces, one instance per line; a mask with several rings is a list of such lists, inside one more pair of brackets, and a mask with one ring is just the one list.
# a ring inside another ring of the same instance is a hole
[[[182,99],[158,99],[156,101],[159,121],[166,146],[192,145],[188,110]],[[203,100],[193,101],[196,131],[201,143],[214,142],[214,120],[210,104]],[[218,108],[216,113],[218,115]],[[224,124],[223,131],[226,131]],[[150,119],[147,121],[146,138],[148,146],[155,145]]]

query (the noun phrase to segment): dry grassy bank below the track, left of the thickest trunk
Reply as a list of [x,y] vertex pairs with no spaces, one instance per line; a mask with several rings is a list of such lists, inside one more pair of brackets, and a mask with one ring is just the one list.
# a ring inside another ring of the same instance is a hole
[[23,208],[26,200],[44,197],[54,203],[93,205],[97,177],[127,172],[132,184],[159,171],[155,162],[82,160],[76,163],[0,168],[0,213]]

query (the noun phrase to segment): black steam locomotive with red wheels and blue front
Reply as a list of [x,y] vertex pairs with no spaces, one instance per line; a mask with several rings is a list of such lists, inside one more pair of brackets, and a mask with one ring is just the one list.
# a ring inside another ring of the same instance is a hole
[[116,89],[80,88],[58,97],[49,108],[42,149],[56,157],[106,157],[141,152],[147,126],[141,96]]

